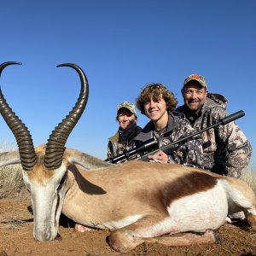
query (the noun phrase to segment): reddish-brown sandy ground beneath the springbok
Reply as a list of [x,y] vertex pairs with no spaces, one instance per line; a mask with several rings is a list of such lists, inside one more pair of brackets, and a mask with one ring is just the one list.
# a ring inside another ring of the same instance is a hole
[[0,256],[9,255],[256,255],[256,233],[247,221],[224,224],[218,230],[221,244],[212,246],[166,247],[143,243],[129,253],[117,253],[108,246],[108,230],[77,233],[73,222],[61,216],[57,241],[34,241],[29,195],[0,200]]

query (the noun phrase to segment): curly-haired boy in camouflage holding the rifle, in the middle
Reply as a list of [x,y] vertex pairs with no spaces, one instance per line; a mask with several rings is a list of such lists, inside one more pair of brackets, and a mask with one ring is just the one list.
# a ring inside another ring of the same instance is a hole
[[[189,136],[195,130],[189,125],[183,114],[175,113],[177,99],[163,84],[148,84],[137,97],[137,108],[150,121],[140,134],[135,137],[136,145],[154,138],[158,145],[152,150]],[[148,156],[150,161],[169,164],[183,164],[201,167],[202,147],[201,137],[191,137],[180,143],[168,154],[158,151]]]

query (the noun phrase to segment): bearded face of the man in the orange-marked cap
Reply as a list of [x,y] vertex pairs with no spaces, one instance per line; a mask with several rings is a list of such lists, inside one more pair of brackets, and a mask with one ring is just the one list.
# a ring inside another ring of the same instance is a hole
[[206,101],[207,90],[196,81],[191,81],[182,90],[184,104],[197,113]]

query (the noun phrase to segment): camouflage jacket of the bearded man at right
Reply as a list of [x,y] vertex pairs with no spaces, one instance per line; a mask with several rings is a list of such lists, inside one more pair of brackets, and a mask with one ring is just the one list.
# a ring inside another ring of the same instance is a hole
[[[184,113],[190,124],[199,131],[229,115],[225,111],[226,105],[224,96],[209,93],[199,117],[194,118],[185,105],[177,108],[177,111]],[[205,131],[201,133],[201,138],[205,169],[231,177],[241,176],[251,158],[252,147],[235,122]]]

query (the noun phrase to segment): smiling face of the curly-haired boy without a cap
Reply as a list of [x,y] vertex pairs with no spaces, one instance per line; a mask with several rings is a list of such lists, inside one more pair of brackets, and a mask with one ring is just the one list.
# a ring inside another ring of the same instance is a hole
[[149,102],[144,103],[144,111],[147,117],[153,121],[159,121],[163,116],[168,115],[166,101],[161,97],[160,100],[150,98]]

